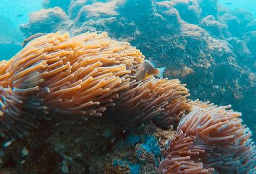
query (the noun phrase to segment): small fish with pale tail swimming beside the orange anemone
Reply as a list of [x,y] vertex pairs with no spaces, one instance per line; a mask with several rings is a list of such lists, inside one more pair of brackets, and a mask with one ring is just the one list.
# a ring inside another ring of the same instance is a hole
[[142,81],[144,79],[147,79],[148,77],[152,77],[153,75],[156,75],[159,78],[163,77],[166,67],[155,67],[156,66],[152,61],[145,60],[138,68],[138,71],[136,73],[137,79]]

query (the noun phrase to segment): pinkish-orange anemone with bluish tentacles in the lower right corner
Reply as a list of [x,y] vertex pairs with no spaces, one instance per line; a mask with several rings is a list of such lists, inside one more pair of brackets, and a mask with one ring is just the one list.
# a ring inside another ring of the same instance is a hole
[[250,173],[255,170],[252,134],[230,106],[196,100],[182,117],[159,168],[163,173]]

